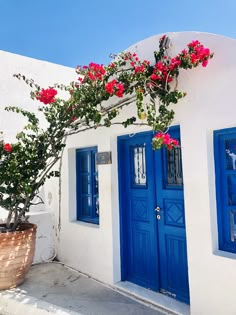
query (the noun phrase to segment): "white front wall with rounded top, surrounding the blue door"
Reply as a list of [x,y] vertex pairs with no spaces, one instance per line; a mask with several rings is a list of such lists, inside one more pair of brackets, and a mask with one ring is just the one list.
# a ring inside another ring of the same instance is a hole
[[[175,55],[198,39],[215,52],[207,68],[182,71],[179,88],[187,97],[176,108],[183,150],[186,230],[191,314],[236,314],[236,255],[219,252],[213,130],[236,126],[236,41],[218,35],[169,33]],[[148,38],[128,50],[153,59],[160,36]],[[134,108],[125,109],[133,111]],[[59,258],[102,281],[120,280],[120,235],[117,172],[117,136],[145,128],[100,129],[68,140],[63,159],[62,228]],[[100,224],[76,221],[75,149],[98,146],[112,151],[112,164],[99,166]]]

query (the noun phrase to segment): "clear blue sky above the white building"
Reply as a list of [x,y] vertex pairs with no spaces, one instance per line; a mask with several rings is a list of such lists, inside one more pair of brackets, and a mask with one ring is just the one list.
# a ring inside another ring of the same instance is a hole
[[236,38],[236,0],[0,0],[0,50],[70,67],[188,30]]

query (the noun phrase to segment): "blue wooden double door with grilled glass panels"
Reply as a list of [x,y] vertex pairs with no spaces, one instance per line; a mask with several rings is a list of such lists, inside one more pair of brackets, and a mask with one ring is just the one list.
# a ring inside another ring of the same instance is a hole
[[181,149],[154,151],[152,136],[118,139],[122,280],[189,303]]

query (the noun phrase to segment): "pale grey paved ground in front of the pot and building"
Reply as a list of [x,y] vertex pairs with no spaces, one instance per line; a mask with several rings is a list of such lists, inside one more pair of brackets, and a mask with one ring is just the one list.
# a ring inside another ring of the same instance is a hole
[[[16,304],[14,308],[12,306],[14,315],[44,314],[39,312],[40,308],[47,310],[47,314],[168,314],[141,304],[93,279],[54,263],[33,266],[23,285],[14,290],[1,291],[0,298],[7,298],[7,301],[10,299],[11,303],[19,303],[19,308]],[[3,302],[0,300],[0,303]],[[0,314],[1,312],[4,315],[11,314],[8,313],[11,310],[11,303],[8,308],[5,304],[5,308],[2,309],[0,304]],[[20,311],[20,306],[23,304],[32,309]]]

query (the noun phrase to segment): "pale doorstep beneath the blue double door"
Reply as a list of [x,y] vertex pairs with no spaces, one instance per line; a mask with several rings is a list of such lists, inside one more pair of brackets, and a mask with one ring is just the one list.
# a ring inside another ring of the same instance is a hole
[[169,311],[173,315],[190,315],[190,306],[164,294],[145,289],[128,281],[118,282],[115,287],[123,293],[140,301],[155,305],[160,310]]

